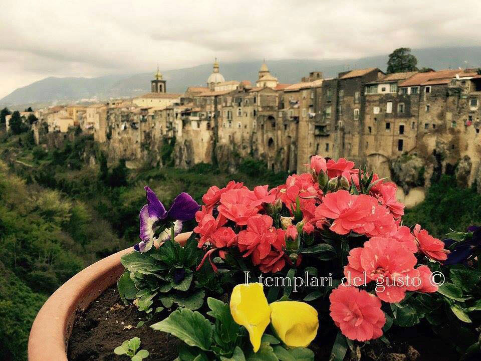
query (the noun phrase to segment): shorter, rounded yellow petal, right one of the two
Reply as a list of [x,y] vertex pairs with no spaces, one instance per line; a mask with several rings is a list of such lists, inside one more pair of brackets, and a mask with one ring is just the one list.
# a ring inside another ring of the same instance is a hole
[[298,301],[271,303],[271,322],[279,338],[290,347],[307,347],[319,328],[316,309]]

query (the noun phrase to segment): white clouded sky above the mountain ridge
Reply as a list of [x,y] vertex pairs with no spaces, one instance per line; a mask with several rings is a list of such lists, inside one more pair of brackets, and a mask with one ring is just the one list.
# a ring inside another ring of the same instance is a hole
[[479,0],[0,0],[0,98],[47,76],[481,45]]

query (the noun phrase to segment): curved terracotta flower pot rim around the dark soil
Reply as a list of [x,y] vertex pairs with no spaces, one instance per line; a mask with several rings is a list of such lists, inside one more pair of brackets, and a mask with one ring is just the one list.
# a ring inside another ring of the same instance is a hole
[[[181,233],[175,240],[185,243],[191,233]],[[29,361],[68,361],[67,344],[76,312],[85,310],[117,282],[124,272],[120,258],[131,251],[133,248],[125,249],[85,268],[50,296],[30,331]]]

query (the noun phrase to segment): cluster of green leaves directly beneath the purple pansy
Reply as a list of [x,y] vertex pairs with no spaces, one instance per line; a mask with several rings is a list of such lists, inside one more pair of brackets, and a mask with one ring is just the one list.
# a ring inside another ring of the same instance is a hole
[[197,248],[192,236],[185,247],[166,241],[158,249],[147,252],[131,252],[122,257],[126,272],[117,286],[125,303],[133,303],[141,311],[152,312],[156,303],[171,308],[174,304],[196,310],[204,302],[204,288],[208,285],[217,293],[222,291],[210,264],[205,262],[196,271],[203,252]]

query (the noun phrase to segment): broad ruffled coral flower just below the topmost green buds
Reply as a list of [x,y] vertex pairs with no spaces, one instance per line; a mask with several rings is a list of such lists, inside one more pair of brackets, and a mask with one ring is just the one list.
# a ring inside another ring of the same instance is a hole
[[337,234],[348,234],[351,230],[370,232],[372,223],[364,222],[371,215],[371,197],[367,195],[351,195],[348,191],[337,191],[327,194],[323,203],[316,208],[315,216],[333,219],[330,230]]

